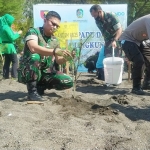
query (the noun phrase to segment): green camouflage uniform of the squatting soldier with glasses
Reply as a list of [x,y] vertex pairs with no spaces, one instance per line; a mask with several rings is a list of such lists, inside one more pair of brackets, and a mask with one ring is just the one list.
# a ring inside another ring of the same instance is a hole
[[51,38],[44,36],[42,27],[30,28],[25,36],[24,54],[18,68],[18,81],[24,84],[37,81],[39,92],[45,89],[63,90],[72,87],[72,78],[53,68],[52,56],[42,57],[37,53],[31,53],[26,42],[33,38],[32,35],[37,35],[40,46],[53,49],[59,44],[54,36]]

